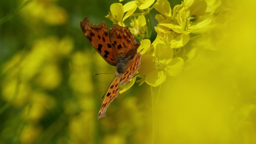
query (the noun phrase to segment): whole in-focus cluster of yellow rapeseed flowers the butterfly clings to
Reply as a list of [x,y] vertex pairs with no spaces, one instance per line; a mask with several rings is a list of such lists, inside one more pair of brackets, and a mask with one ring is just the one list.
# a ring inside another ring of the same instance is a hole
[[[138,69],[136,77],[146,82],[150,86],[161,85],[168,77],[175,77],[181,73],[184,62],[188,56],[184,55],[184,46],[193,39],[200,37],[200,31],[208,30],[207,25],[211,18],[198,23],[192,20],[198,16],[205,15],[207,3],[205,0],[185,0],[181,4],[170,7],[168,0],[135,0],[124,4],[114,3],[110,6],[109,18],[114,23],[126,25],[125,19],[131,19],[131,33],[141,41],[138,52],[143,49],[141,54],[141,68]],[[135,13],[138,9],[140,13]],[[155,31],[156,39],[151,43],[152,24],[150,20],[150,10],[155,9],[160,14],[155,15],[158,21]],[[126,12],[126,13],[125,13]],[[125,14],[124,14],[125,13]],[[127,85],[124,92],[135,83],[135,80]]]

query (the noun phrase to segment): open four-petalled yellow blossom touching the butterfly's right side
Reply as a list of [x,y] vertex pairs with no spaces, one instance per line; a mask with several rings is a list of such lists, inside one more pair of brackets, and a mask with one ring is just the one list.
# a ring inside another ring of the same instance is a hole
[[158,86],[168,76],[177,76],[183,69],[182,58],[173,58],[173,50],[167,44],[158,43],[155,46],[155,57],[149,54],[141,58],[141,68],[138,72],[146,76],[146,83]]

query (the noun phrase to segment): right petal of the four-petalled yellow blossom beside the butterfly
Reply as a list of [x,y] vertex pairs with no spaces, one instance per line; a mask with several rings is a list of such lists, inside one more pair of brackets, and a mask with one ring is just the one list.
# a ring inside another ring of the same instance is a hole
[[165,68],[165,71],[169,76],[175,77],[182,71],[183,65],[184,61],[182,58],[173,58]]

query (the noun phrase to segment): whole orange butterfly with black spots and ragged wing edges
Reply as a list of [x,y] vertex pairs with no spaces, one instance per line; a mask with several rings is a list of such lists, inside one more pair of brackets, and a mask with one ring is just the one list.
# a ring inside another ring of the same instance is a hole
[[106,110],[110,102],[118,97],[119,83],[124,85],[129,82],[133,75],[140,68],[141,50],[137,52],[140,43],[137,43],[131,34],[128,26],[113,24],[109,30],[103,22],[91,24],[87,16],[80,22],[80,27],[86,38],[102,56],[105,61],[116,67],[114,76],[117,78],[110,85],[98,113],[97,119],[106,116]]

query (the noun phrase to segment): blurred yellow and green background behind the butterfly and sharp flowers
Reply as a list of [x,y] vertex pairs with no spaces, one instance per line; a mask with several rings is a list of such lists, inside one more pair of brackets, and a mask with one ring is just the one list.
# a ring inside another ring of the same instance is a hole
[[115,67],[80,21],[111,28],[104,16],[119,1],[0,1],[0,144],[149,144],[152,127],[156,144],[256,144],[256,2],[206,1],[212,29],[185,46],[189,59],[157,88],[154,116],[144,83],[119,94],[99,120],[112,76],[94,73]]

